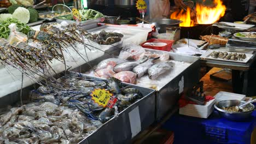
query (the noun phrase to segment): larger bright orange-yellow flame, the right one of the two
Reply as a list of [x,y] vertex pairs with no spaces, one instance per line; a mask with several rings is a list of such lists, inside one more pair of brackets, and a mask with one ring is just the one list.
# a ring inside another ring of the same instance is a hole
[[202,4],[196,4],[196,20],[199,24],[211,24],[224,16],[226,7],[220,0],[214,0],[216,7],[205,7]]

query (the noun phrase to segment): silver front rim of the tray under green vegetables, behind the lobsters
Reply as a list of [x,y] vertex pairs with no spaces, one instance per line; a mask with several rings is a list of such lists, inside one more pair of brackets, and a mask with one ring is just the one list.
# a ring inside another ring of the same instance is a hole
[[[91,24],[97,24],[98,22],[103,22],[105,20],[106,16],[94,19],[94,20],[87,20],[87,21],[80,21],[78,22],[78,26],[83,27],[83,26],[87,26],[87,25],[91,25]],[[67,23],[75,23],[76,21],[72,21],[72,20],[62,20],[62,19],[58,19],[58,17],[55,17],[56,22],[61,23],[62,21],[66,21]]]

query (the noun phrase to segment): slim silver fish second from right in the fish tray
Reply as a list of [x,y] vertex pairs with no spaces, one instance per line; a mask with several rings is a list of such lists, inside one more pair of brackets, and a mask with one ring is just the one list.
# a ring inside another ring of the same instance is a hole
[[135,68],[132,69],[133,73],[137,74],[137,77],[142,77],[144,74],[148,72],[148,69],[152,67],[154,58],[148,59],[147,62],[137,65]]

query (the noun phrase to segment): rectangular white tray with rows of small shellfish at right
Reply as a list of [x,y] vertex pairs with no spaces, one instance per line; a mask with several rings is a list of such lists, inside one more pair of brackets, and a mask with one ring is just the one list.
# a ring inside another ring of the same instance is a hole
[[[216,53],[216,55],[214,55],[214,53]],[[221,53],[223,53],[223,55],[221,55]],[[200,57],[203,59],[214,59],[218,61],[247,63],[253,56],[254,55],[248,53],[245,54],[237,52],[218,52],[210,50],[206,53],[203,53],[203,55]]]

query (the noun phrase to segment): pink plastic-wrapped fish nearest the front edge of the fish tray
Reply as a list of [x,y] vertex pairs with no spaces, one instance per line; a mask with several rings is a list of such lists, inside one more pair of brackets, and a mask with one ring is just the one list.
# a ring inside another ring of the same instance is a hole
[[135,84],[137,75],[132,71],[121,71],[114,74],[114,77],[120,81]]

